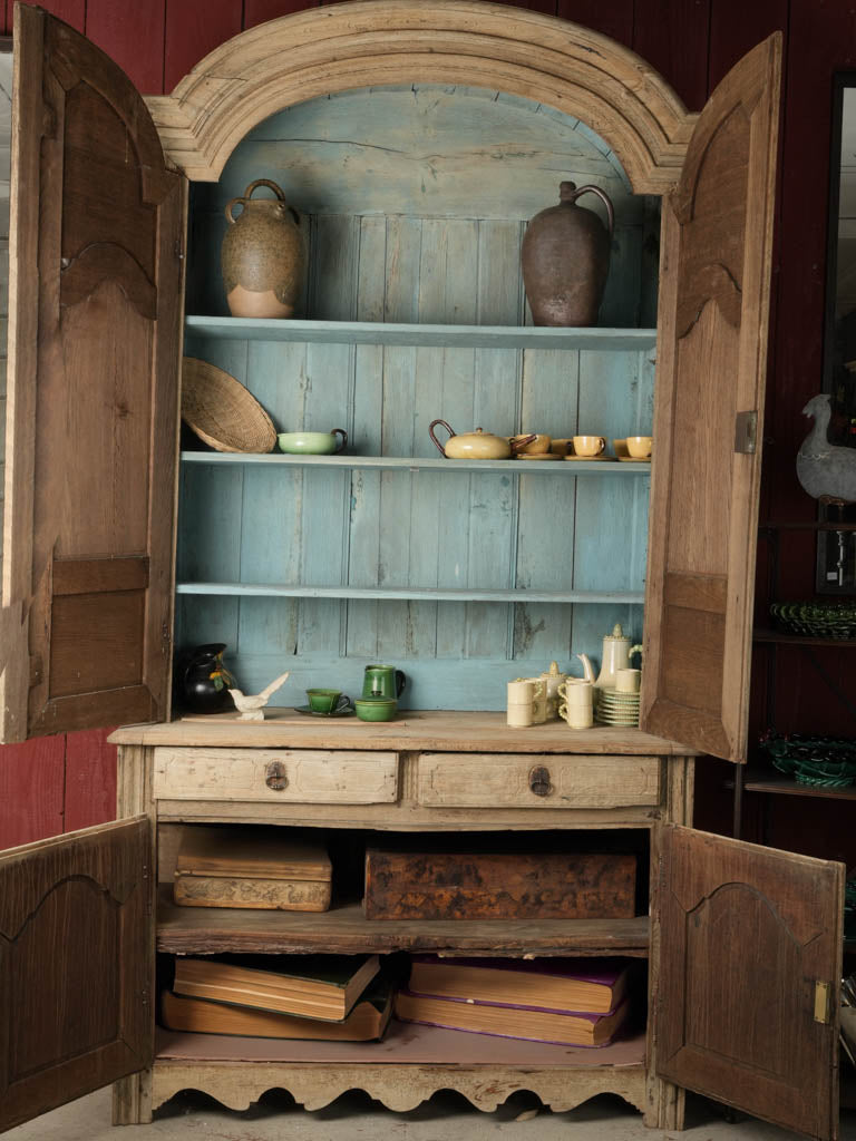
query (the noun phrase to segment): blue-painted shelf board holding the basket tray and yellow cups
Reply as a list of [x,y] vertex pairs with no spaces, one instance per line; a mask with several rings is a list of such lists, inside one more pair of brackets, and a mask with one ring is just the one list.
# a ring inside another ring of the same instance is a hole
[[181,452],[181,463],[210,464],[268,464],[284,468],[344,468],[344,469],[380,469],[393,471],[444,471],[450,475],[462,471],[482,474],[501,471],[512,476],[541,475],[563,476],[648,476],[651,463],[638,462],[606,463],[603,460],[444,460],[439,456],[402,456],[402,455],[284,455],[282,452]]

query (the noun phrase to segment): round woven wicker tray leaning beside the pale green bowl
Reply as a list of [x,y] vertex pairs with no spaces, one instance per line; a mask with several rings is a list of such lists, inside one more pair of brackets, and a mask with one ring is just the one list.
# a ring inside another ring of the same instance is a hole
[[223,369],[185,357],[181,419],[218,452],[270,452],[276,429],[244,386]]

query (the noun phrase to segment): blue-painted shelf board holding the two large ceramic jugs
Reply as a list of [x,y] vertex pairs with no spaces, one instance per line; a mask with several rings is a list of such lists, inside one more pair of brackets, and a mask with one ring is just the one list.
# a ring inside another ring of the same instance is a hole
[[185,332],[227,340],[306,341],[313,345],[387,345],[486,349],[613,349],[656,346],[655,329],[555,329],[541,325],[420,325],[365,321],[284,321],[263,317],[185,318]]

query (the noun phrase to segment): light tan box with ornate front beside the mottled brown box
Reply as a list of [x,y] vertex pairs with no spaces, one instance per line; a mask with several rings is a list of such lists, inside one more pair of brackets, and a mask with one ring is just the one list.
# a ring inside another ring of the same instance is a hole
[[276,827],[187,825],[173,896],[186,907],[325,912],[332,865],[318,840]]

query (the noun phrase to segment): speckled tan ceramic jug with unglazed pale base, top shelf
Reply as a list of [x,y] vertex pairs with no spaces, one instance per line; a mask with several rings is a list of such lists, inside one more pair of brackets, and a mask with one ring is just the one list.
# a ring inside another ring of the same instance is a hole
[[[258,186],[275,199],[252,200]],[[243,209],[235,218],[236,205]],[[226,300],[233,317],[292,317],[306,269],[300,216],[285,203],[276,183],[258,178],[226,207],[229,227],[223,240],[220,265]]]

